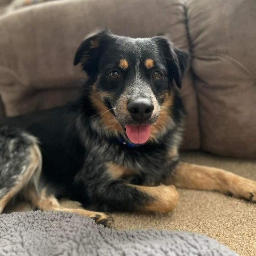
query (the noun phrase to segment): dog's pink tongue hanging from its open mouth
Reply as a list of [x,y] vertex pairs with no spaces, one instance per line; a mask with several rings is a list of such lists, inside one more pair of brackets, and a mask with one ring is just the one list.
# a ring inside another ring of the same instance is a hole
[[150,136],[150,125],[126,125],[125,128],[127,137],[135,144],[147,142]]

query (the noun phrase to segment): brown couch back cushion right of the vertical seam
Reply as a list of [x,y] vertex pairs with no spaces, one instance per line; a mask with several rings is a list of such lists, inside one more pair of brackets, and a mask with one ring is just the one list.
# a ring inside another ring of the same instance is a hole
[[255,1],[194,0],[187,8],[202,149],[255,158]]

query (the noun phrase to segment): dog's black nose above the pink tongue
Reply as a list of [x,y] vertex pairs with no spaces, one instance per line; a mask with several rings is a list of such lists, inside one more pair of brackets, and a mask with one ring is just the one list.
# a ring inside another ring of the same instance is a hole
[[142,98],[129,102],[127,109],[134,120],[143,122],[150,118],[154,105],[150,100]]

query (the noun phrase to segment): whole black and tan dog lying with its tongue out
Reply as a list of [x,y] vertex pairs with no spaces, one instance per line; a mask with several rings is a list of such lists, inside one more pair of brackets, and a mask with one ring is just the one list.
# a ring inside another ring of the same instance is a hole
[[187,59],[164,37],[102,31],[85,39],[74,63],[89,78],[77,101],[0,121],[0,212],[22,192],[37,209],[108,226],[106,214],[57,198],[93,211],[169,212],[179,198],[173,185],[255,202],[255,181],[179,162],[185,109],[177,87]]

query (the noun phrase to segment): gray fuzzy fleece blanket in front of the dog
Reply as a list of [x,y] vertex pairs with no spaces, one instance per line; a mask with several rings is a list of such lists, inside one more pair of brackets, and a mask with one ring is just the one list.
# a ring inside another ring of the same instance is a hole
[[181,231],[116,231],[64,212],[0,215],[0,255],[237,256],[213,239]]

